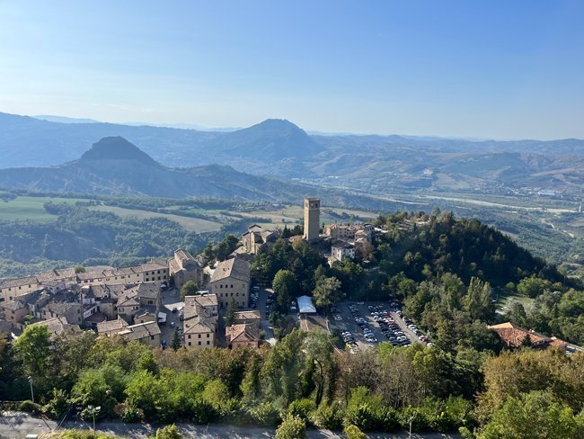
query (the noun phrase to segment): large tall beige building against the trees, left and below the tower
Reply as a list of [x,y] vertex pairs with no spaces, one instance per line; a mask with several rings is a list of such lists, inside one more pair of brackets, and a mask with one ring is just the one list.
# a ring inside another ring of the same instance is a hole
[[217,263],[210,289],[217,295],[219,309],[227,308],[232,301],[239,308],[247,308],[251,275],[250,264],[242,258],[234,257]]

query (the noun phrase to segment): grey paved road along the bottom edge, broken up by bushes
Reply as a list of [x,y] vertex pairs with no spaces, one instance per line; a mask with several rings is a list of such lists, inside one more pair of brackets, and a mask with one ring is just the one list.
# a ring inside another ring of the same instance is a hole
[[[198,439],[254,439],[273,438],[275,430],[273,428],[258,428],[245,426],[193,426],[191,424],[178,424],[182,434],[188,438]],[[23,438],[27,434],[40,435],[49,433],[57,427],[54,421],[44,421],[38,417],[31,417],[22,412],[6,412],[0,417],[0,438]],[[123,435],[132,439],[145,439],[155,435],[156,427],[151,424],[123,424],[121,422],[101,422],[97,424],[97,431],[111,435]],[[89,430],[91,426],[83,421],[69,421],[63,428],[78,428]],[[343,436],[329,430],[306,430],[308,439],[341,439]],[[406,439],[407,433],[371,433],[367,435],[371,439]],[[458,434],[441,435],[429,433],[424,435],[411,435],[416,439],[460,439]]]

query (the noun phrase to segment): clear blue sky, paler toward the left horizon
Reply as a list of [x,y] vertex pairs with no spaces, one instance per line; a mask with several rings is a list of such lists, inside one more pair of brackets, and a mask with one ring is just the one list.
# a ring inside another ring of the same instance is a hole
[[584,139],[584,2],[0,0],[0,112]]

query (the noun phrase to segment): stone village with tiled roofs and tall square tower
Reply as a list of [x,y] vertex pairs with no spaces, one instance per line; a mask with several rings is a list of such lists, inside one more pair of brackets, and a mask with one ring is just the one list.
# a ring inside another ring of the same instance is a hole
[[[356,251],[369,251],[376,233],[384,230],[372,224],[321,227],[320,200],[305,199],[303,238],[318,244],[330,266],[354,258]],[[273,299],[267,299],[267,309],[265,304],[258,309],[259,287],[252,286],[251,263],[281,234],[279,229],[252,225],[226,260],[212,264],[203,253],[192,256],[179,248],[165,262],[123,268],[78,266],[2,280],[0,332],[16,338],[30,325],[45,325],[52,336],[93,329],[99,336],[119,335],[151,347],[166,347],[176,332],[187,349],[258,347],[264,342],[261,333],[269,326]],[[180,298],[187,282],[197,291]],[[231,325],[223,327],[219,316],[225,316],[230,306],[237,310]],[[308,307],[315,311],[311,303]],[[291,311],[296,310],[296,303],[291,303]]]

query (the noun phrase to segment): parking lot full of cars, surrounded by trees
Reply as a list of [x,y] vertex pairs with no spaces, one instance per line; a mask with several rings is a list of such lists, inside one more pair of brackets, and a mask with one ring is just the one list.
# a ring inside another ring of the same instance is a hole
[[339,329],[352,352],[380,342],[389,342],[394,346],[424,343],[420,340],[420,336],[423,337],[420,329],[403,316],[396,303],[342,302],[331,310],[331,323]]

